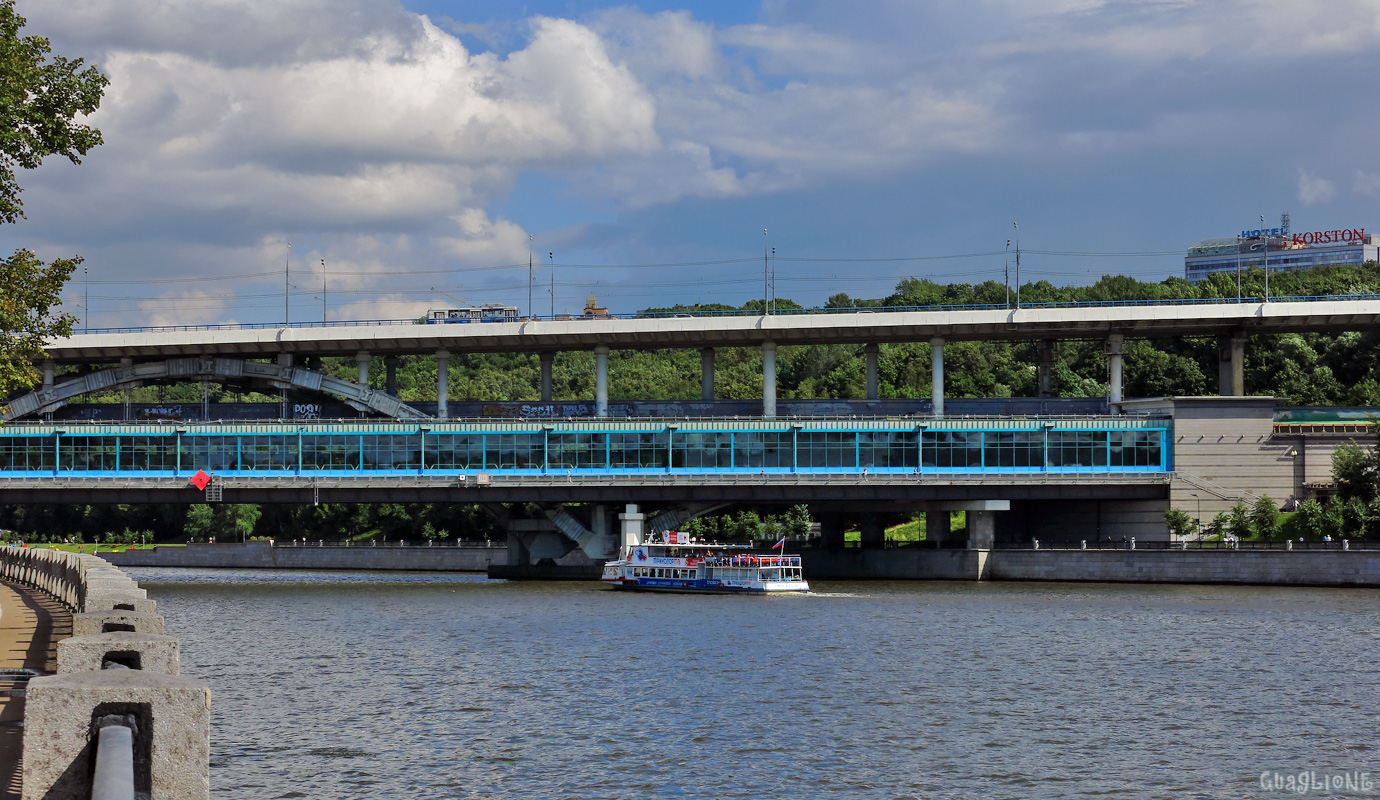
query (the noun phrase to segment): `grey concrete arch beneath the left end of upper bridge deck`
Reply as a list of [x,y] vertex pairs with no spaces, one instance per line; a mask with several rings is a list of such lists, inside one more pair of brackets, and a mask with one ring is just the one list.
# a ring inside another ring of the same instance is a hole
[[80,378],[44,385],[28,394],[15,397],[0,418],[8,422],[33,414],[47,414],[62,408],[73,397],[81,394],[110,389],[132,389],[156,381],[177,379],[225,383],[226,381],[241,378],[262,381],[275,389],[308,389],[335,394],[359,411],[374,411],[395,419],[429,418],[428,414],[407,406],[386,392],[377,392],[368,386],[331,378],[330,375],[304,370],[302,367],[246,361],[241,359],[168,359],[166,361],[146,361],[87,372]]

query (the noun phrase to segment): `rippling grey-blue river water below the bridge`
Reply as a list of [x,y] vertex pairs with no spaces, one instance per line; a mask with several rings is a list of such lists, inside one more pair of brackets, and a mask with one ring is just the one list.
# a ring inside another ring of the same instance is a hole
[[128,571],[181,637],[182,672],[213,688],[217,799],[1235,799],[1286,796],[1261,774],[1304,771],[1380,783],[1374,590],[700,597]]

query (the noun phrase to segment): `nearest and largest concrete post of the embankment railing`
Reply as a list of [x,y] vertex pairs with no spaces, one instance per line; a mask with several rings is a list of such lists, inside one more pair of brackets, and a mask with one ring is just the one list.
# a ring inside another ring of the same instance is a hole
[[91,796],[92,723],[106,714],[137,720],[137,792],[150,800],[210,799],[210,688],[177,674],[103,669],[29,681],[23,800]]

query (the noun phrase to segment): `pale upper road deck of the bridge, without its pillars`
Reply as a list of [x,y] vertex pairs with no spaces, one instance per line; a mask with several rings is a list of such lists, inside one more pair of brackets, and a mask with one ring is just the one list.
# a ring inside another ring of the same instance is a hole
[[947,341],[1209,337],[1366,330],[1380,298],[1276,298],[1270,302],[1063,303],[1035,308],[811,309],[771,316],[534,319],[418,324],[413,320],[293,326],[193,326],[77,332],[54,341],[58,363],[177,356],[417,354],[719,348]]

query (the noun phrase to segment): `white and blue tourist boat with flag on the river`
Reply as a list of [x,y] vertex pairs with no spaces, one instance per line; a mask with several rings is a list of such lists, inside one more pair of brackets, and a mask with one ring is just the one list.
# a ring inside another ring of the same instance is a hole
[[[784,548],[785,539],[777,542]],[[660,541],[628,545],[604,564],[604,583],[643,592],[776,594],[809,592],[800,556],[763,554],[741,545],[705,545],[673,531]]]

